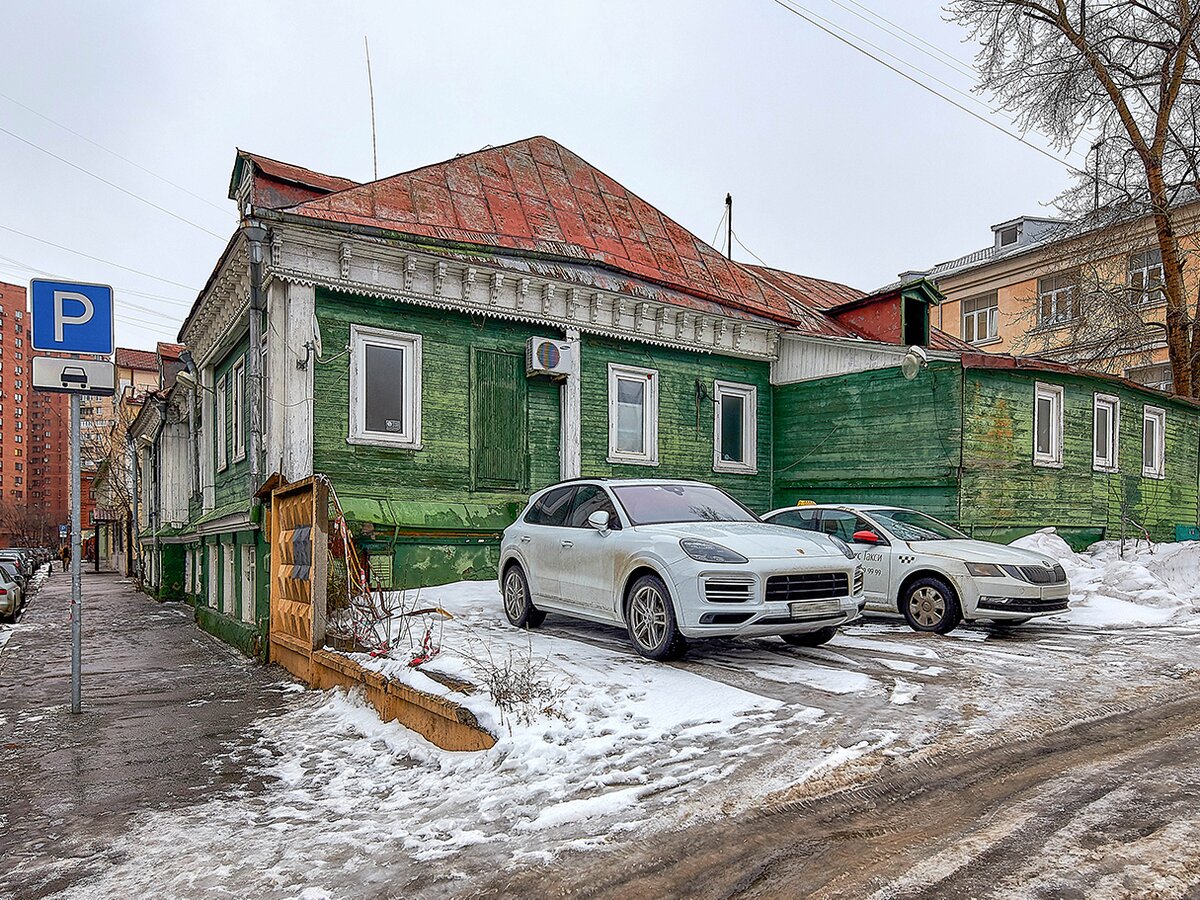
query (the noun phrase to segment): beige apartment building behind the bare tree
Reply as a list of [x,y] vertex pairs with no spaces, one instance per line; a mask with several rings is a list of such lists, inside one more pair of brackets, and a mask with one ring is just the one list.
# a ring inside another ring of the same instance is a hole
[[[1200,203],[1180,210],[1183,275],[1200,288]],[[930,271],[946,302],[934,324],[980,350],[1036,355],[1170,390],[1162,257],[1147,216],[1104,233],[1022,216]],[[1082,298],[1108,298],[1087,301]]]

